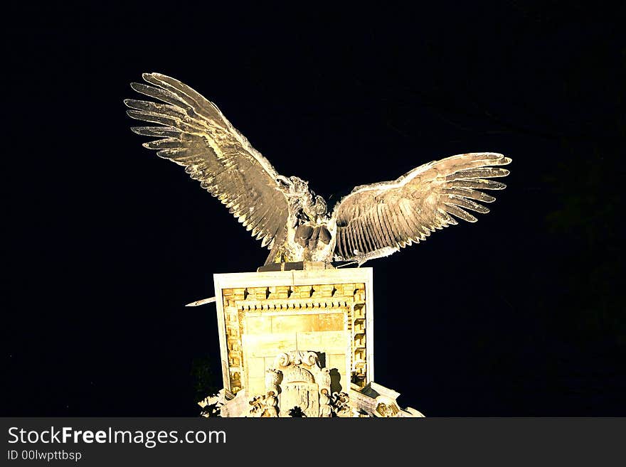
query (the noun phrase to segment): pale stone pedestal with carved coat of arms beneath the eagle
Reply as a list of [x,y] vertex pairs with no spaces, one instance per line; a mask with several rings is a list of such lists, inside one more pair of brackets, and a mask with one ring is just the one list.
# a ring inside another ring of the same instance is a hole
[[423,417],[373,382],[371,268],[215,274],[221,417]]

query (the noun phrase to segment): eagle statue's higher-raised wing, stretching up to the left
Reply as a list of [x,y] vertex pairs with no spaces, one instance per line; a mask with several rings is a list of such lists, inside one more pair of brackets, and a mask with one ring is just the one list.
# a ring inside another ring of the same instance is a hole
[[[124,100],[130,117],[160,124],[132,131],[159,139],[144,143],[185,167],[191,178],[229,208],[262,246],[272,247],[287,224],[288,203],[279,176],[213,102],[169,76],[145,73],[150,85],[131,87],[161,102]],[[152,86],[151,86],[152,85]]]

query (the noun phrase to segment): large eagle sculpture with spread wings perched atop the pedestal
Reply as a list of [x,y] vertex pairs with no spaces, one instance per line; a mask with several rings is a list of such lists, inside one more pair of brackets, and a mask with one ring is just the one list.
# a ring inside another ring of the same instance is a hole
[[413,168],[394,181],[361,185],[329,212],[322,196],[272,164],[224,117],[216,104],[191,87],[159,73],[132,89],[159,102],[124,100],[129,117],[159,124],[133,127],[157,155],[185,167],[191,178],[218,198],[253,237],[270,249],[265,264],[357,262],[385,257],[423,241],[452,216],[476,222],[495,198],[480,190],[502,190],[489,178],[509,174],[502,154],[459,154]]

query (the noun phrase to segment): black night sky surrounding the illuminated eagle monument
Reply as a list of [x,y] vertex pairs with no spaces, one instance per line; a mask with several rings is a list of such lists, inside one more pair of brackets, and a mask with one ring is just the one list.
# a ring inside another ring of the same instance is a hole
[[376,381],[433,417],[626,416],[624,9],[174,5],[6,11],[0,415],[193,416],[197,362],[221,380],[214,306],[183,305],[267,251],[129,130],[156,71],[330,205],[510,156],[491,213],[366,264]]

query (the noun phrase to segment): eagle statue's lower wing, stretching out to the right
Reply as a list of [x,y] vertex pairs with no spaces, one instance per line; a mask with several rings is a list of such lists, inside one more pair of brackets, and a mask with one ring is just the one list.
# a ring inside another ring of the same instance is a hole
[[509,174],[511,159],[491,152],[460,154],[425,163],[396,181],[357,186],[333,210],[338,259],[373,259],[420,242],[448,225],[451,215],[476,222],[468,213],[489,213],[477,203],[496,198],[479,190],[502,190],[488,178]]

